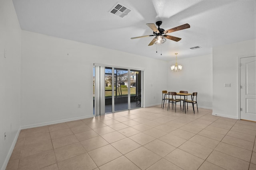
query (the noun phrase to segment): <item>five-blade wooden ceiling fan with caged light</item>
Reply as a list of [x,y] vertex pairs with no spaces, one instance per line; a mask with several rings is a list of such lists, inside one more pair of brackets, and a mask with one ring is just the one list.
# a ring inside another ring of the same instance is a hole
[[132,37],[131,39],[156,36],[152,39],[152,41],[148,44],[148,46],[153,45],[153,44],[162,44],[166,41],[166,38],[170,39],[170,40],[173,40],[173,41],[180,41],[181,38],[174,37],[174,36],[171,36],[171,35],[166,35],[166,34],[174,32],[174,31],[179,31],[179,30],[182,30],[182,29],[190,28],[190,25],[188,23],[185,23],[184,25],[180,25],[178,27],[174,27],[174,28],[171,28],[171,29],[168,29],[168,30],[165,31],[164,29],[159,27],[161,24],[162,24],[162,21],[157,21],[156,22],[156,25],[158,26],[158,28],[157,28],[154,23],[147,23],[146,25],[148,25],[148,27],[150,27],[153,30],[153,35],[144,35],[144,36],[140,36],[140,37]]

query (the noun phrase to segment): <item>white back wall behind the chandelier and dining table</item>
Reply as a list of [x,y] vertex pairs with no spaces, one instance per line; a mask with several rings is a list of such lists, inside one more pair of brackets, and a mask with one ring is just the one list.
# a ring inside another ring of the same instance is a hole
[[170,66],[175,63],[175,60],[168,62],[168,89],[166,90],[198,92],[198,107],[212,109],[212,55],[186,59],[180,59],[177,55],[177,63],[182,65],[180,72],[171,71]]

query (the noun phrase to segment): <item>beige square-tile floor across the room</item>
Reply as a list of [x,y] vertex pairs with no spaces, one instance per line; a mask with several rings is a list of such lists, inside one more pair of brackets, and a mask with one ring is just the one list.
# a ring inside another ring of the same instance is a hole
[[7,170],[256,170],[256,123],[134,109],[20,132]]

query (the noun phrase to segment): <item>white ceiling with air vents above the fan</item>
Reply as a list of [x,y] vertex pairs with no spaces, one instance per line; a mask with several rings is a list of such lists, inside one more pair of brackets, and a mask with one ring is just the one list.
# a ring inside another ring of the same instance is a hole
[[[119,2],[131,12],[120,18],[109,11]],[[70,39],[169,61],[212,53],[212,47],[256,38],[256,0],[13,0],[23,30]],[[162,21],[182,38],[148,46],[146,23]],[[156,53],[156,46],[157,51]],[[191,50],[190,47],[201,46]],[[162,50],[162,55],[160,55]]]

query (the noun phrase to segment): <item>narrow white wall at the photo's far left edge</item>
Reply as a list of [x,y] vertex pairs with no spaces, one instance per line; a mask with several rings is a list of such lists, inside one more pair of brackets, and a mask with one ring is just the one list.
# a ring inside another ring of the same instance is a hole
[[[0,0],[0,168],[4,170],[20,128],[21,30],[11,0]],[[6,49],[6,58],[4,58]],[[6,140],[3,134],[6,132]]]

